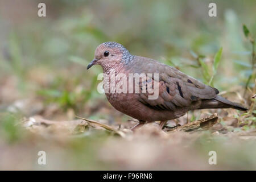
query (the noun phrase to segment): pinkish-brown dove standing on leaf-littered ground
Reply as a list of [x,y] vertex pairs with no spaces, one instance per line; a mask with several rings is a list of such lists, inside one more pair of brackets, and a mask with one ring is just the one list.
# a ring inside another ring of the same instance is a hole
[[[218,89],[205,85],[170,65],[147,57],[132,55],[124,46],[116,42],[100,44],[87,69],[93,65],[101,65],[106,81],[111,79],[111,76],[107,76],[111,75],[112,71],[114,71],[114,76],[122,74],[126,75],[127,79],[129,74],[136,73],[158,75],[158,77],[151,76],[146,80],[139,80],[137,84],[146,85],[146,93],[105,92],[108,101],[115,109],[138,119],[139,123],[131,130],[137,130],[145,123],[154,121],[160,121],[159,127],[163,129],[168,120],[179,118],[189,110],[214,108],[247,110],[245,107],[219,96]],[[120,79],[115,80],[115,84],[118,84],[119,81]],[[147,90],[150,88],[158,88],[158,97],[153,100],[148,97],[150,93]]]

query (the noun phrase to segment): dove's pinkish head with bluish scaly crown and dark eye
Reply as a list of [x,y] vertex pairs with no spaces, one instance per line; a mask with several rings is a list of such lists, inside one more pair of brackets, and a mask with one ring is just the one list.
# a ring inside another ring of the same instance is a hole
[[105,42],[96,48],[94,59],[87,69],[94,64],[101,65],[102,68],[113,67],[115,64],[129,61],[133,56],[125,47],[116,42]]

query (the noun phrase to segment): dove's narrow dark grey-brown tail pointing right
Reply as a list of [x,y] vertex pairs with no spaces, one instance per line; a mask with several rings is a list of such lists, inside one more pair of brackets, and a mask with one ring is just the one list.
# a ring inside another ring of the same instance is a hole
[[233,108],[242,111],[247,111],[247,109],[239,104],[226,100],[221,96],[216,96],[210,100],[202,100],[199,109],[214,109],[214,108]]

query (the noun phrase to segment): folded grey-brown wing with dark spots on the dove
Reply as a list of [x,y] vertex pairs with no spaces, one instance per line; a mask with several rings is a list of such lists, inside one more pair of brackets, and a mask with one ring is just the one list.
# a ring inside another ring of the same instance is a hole
[[211,99],[216,97],[218,90],[203,82],[196,80],[193,77],[185,75],[179,70],[170,67],[158,61],[148,59],[146,57],[135,56],[133,65],[130,67],[130,72],[133,73],[152,73],[152,79],[141,81],[140,84],[155,85],[157,81],[154,76],[159,74],[159,97],[155,100],[148,99],[150,94],[139,94],[139,101],[148,107],[158,110],[176,110],[177,107],[192,106],[193,101],[201,99]]

